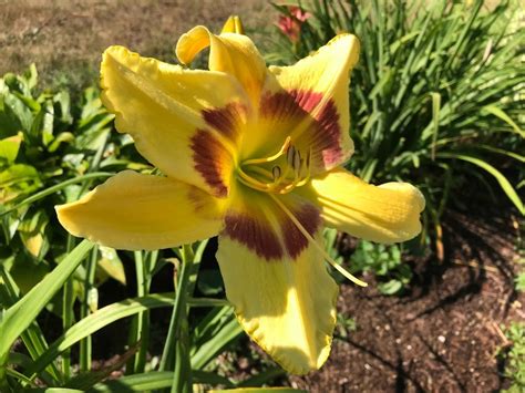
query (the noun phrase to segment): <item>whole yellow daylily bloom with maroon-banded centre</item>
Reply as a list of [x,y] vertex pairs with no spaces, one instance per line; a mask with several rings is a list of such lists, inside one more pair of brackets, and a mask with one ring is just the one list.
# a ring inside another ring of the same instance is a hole
[[372,186],[343,168],[353,153],[354,35],[295,65],[267,68],[240,32],[234,19],[219,35],[199,25],[181,37],[179,61],[209,46],[209,71],[109,48],[102,100],[117,131],[165,177],[125,170],[56,211],[71,234],[117,249],[218,235],[226,294],[243,328],[302,374],[326,361],[336,323],[323,226],[404,241],[421,230],[424,199],[409,184]]

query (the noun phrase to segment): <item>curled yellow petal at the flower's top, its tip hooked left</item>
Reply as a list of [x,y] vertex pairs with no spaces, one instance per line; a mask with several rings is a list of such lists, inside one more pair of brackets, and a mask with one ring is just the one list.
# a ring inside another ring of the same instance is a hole
[[254,103],[258,102],[266,79],[266,64],[251,40],[243,34],[224,32],[215,35],[197,25],[181,35],[176,54],[183,64],[189,64],[205,48],[209,50],[209,70],[235,76]]

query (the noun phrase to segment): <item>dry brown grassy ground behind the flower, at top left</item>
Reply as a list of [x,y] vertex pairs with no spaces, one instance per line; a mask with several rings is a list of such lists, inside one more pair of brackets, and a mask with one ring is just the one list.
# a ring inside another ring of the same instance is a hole
[[264,0],[0,0],[0,75],[34,62],[44,84],[90,84],[109,45],[174,61],[177,38],[196,24],[220,31],[239,14],[249,32],[272,12]]

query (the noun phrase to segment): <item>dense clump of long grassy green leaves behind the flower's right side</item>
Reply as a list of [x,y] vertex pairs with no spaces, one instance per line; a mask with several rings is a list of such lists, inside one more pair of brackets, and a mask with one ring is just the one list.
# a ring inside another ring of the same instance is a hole
[[[292,63],[340,32],[360,39],[349,167],[367,180],[409,180],[424,193],[422,239],[433,236],[439,258],[441,217],[451,203],[466,205],[465,187],[481,183],[493,198],[503,192],[524,211],[517,188],[525,162],[525,30],[517,2],[490,10],[481,0],[292,3],[310,17],[296,20],[294,44],[275,29],[268,60]],[[294,18],[289,6],[274,6]]]

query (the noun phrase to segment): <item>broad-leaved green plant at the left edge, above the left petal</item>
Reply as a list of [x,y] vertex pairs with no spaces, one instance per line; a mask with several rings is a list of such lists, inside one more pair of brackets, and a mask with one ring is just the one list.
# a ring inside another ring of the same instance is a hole
[[[65,251],[55,231],[54,204],[74,199],[109,154],[110,122],[97,92],[72,106],[68,91],[37,92],[37,68],[0,79],[0,255],[25,292]],[[78,112],[78,113],[75,113]],[[56,194],[56,192],[61,194]],[[51,225],[50,225],[51,224]],[[62,238],[62,239],[60,239]],[[54,241],[51,241],[54,240]],[[53,245],[62,249],[54,249]],[[9,245],[9,246],[8,246]],[[47,257],[51,258],[47,258]]]

